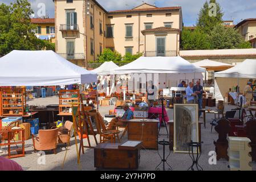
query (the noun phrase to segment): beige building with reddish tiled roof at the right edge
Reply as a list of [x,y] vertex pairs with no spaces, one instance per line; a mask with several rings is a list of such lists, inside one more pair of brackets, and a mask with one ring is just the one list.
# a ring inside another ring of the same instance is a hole
[[245,41],[256,38],[256,18],[244,19],[235,28],[243,36]]

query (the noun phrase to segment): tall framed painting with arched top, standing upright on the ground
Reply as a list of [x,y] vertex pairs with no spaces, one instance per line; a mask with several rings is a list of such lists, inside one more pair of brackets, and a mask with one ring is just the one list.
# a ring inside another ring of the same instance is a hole
[[173,152],[188,153],[189,142],[198,142],[198,105],[174,104]]

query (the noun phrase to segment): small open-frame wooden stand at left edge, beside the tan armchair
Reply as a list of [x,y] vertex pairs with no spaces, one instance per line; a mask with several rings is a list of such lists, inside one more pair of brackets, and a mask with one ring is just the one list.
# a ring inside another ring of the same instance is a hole
[[[15,142],[11,142],[10,140],[10,135],[13,133],[12,130],[7,130],[5,132],[7,132],[8,135],[8,140],[7,143],[0,143],[0,146],[8,146],[8,155],[7,158],[11,159],[11,158],[19,158],[19,157],[23,157],[25,156],[25,130],[24,129],[17,129],[15,131],[18,131],[18,133],[22,132],[22,140],[21,141],[15,141]],[[19,148],[15,148],[15,149],[11,149],[11,146],[15,145],[17,146],[17,144],[22,144],[22,147]],[[11,151],[22,151],[21,154],[15,154],[15,155],[11,155]]]

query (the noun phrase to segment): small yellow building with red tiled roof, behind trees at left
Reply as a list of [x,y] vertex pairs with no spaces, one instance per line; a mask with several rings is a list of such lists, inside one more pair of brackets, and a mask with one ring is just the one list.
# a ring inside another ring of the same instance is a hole
[[32,18],[31,23],[36,24],[34,33],[38,39],[48,40],[55,43],[55,19],[54,18]]

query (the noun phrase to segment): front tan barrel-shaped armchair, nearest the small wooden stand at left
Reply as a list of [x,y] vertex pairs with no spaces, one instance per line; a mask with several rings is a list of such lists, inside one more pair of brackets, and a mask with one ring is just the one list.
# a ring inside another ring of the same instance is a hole
[[56,154],[58,131],[59,129],[39,130],[38,137],[32,135],[34,151],[54,150],[54,154]]

